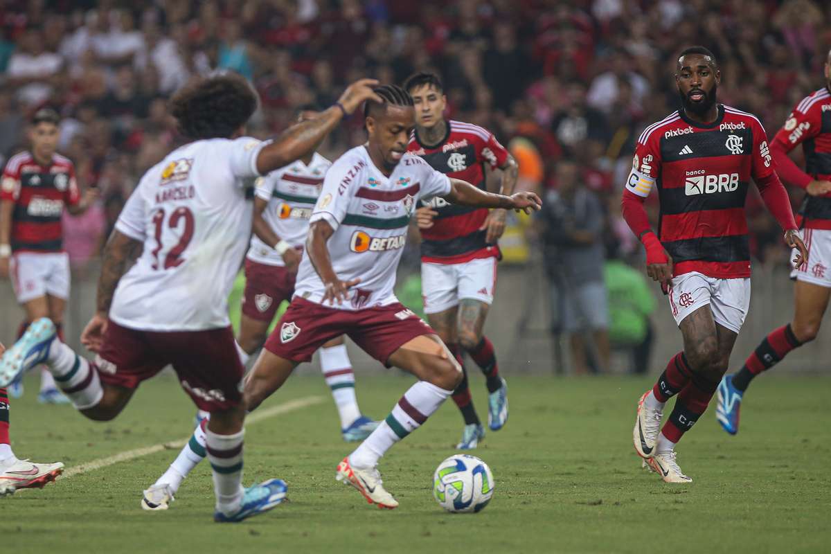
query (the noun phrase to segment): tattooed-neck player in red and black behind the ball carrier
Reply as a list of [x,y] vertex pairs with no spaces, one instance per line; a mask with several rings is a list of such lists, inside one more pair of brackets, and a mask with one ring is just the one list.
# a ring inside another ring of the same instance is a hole
[[[447,98],[438,76],[416,73],[404,88],[416,107],[416,130],[407,150],[436,171],[485,190],[485,166],[502,170],[500,192],[511,194],[519,174],[514,157],[493,133],[461,121],[445,121]],[[453,400],[465,420],[458,449],[475,449],[484,427],[470,398],[462,349],[479,365],[489,392],[488,425],[496,431],[508,419],[508,386],[499,376],[494,345],[482,334],[494,302],[496,245],[505,228],[504,209],[488,212],[435,198],[417,212],[421,242],[421,290],[427,321],[462,365],[464,377]]]

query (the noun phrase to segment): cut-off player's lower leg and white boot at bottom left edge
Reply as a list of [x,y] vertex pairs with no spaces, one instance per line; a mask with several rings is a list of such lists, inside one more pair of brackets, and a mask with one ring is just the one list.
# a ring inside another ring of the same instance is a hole
[[[0,355],[6,348],[0,344]],[[8,437],[8,395],[0,389],[0,497],[19,488],[43,488],[63,473],[63,463],[33,463],[17,459]]]

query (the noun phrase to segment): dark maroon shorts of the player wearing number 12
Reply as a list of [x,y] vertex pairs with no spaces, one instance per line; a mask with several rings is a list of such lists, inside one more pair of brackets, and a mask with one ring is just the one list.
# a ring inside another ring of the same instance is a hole
[[125,389],[135,389],[173,365],[184,391],[199,409],[209,412],[233,408],[243,400],[244,368],[231,327],[136,331],[111,320],[96,365],[103,383]]

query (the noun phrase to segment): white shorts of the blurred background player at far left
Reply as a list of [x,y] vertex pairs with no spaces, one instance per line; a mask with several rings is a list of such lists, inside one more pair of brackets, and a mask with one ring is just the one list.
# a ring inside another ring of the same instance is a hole
[[35,298],[69,298],[69,254],[66,252],[19,252],[9,260],[12,287],[17,302]]

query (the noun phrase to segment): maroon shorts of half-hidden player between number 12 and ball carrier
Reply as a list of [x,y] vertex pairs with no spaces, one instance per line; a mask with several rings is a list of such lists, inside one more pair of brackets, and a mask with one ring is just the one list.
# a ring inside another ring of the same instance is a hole
[[283,300],[291,300],[297,273],[245,258],[243,314],[257,321],[271,321]]

